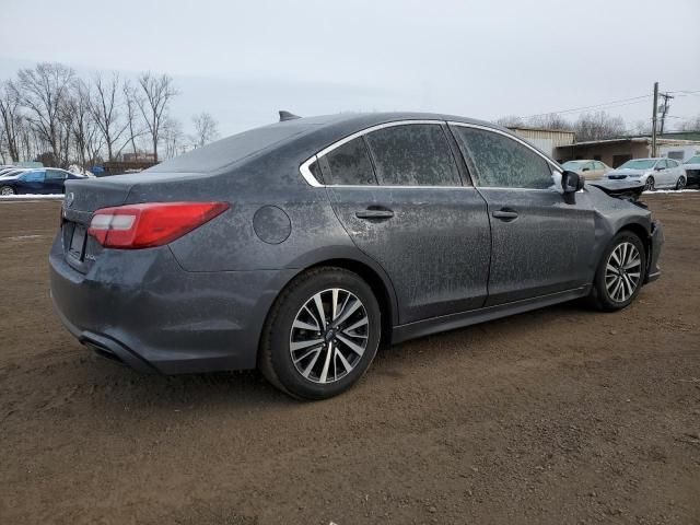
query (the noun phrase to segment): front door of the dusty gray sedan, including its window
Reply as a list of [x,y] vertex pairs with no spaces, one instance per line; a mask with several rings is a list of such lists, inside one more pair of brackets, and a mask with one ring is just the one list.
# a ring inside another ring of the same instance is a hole
[[451,122],[491,221],[487,305],[578,289],[593,281],[594,212],[580,191],[568,201],[541,153],[508,133]]

